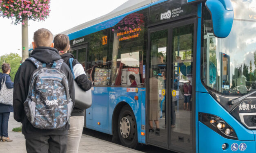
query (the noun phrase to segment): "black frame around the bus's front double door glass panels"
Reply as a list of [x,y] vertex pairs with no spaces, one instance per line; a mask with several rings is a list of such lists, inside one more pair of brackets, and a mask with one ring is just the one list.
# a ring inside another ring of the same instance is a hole
[[[200,20],[200,18],[199,18]],[[169,61],[167,64],[167,70],[168,70],[168,76],[167,76],[167,85],[170,87],[171,82],[169,81],[170,77],[171,77],[171,70],[170,70],[170,63],[173,63],[173,60],[171,58],[171,52],[173,52],[173,48],[172,48],[172,37],[173,37],[173,28],[177,28],[180,26],[185,26],[188,24],[194,24],[194,37],[193,37],[193,79],[192,79],[192,115],[191,115],[191,137],[192,137],[192,150],[195,153],[196,152],[196,49],[197,49],[197,28],[198,28],[198,17],[193,17],[193,18],[189,18],[189,19],[185,19],[185,20],[181,20],[181,21],[176,21],[176,22],[172,22],[172,23],[168,23],[168,24],[164,24],[164,25],[160,25],[160,26],[154,26],[152,28],[149,28],[148,30],[148,42],[147,42],[147,80],[149,80],[149,62],[150,62],[150,58],[149,58],[149,54],[150,54],[150,49],[151,49],[151,44],[150,44],[150,34],[152,32],[156,32],[156,31],[161,31],[164,29],[168,29],[168,44],[167,44],[167,57],[166,57],[166,61]],[[200,25],[199,25],[200,26]],[[169,52],[169,54],[168,54]],[[147,120],[148,116],[149,116],[149,105],[148,105],[148,96],[149,96],[149,81],[147,81],[147,87],[146,87],[146,133],[148,132],[149,129],[149,121]],[[170,89],[166,89],[166,95],[171,95],[171,91]],[[174,146],[171,144],[171,122],[170,122],[170,116],[171,116],[171,111],[170,111],[170,96],[166,96],[166,110],[167,110],[167,118],[166,118],[166,124],[167,124],[167,145],[163,145],[161,143],[150,143],[148,142],[149,140],[149,134],[146,135],[146,143],[147,144],[151,144],[154,146],[159,146],[165,149],[169,149],[172,151],[178,151],[178,152],[191,152],[191,150],[186,150],[179,146]]]

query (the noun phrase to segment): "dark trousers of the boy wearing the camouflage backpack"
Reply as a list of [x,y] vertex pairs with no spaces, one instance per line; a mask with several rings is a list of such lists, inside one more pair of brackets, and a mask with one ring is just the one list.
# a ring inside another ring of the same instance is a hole
[[26,139],[28,153],[66,153],[67,135],[39,136]]

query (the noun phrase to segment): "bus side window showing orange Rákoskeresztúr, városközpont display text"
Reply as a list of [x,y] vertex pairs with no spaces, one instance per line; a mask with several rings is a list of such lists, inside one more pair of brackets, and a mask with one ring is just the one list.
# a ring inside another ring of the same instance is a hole
[[112,59],[110,85],[134,85],[134,80],[129,79],[131,74],[135,77],[136,85],[143,85],[142,81],[144,82],[146,76],[145,66],[143,67],[145,21],[136,20],[142,16],[142,13],[127,15],[111,29],[113,48],[109,55]]

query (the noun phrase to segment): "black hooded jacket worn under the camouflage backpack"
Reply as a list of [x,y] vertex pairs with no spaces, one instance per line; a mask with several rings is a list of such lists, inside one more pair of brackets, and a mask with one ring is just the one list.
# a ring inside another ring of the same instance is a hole
[[[58,51],[51,47],[37,47],[33,50],[31,57],[38,59],[42,63],[53,63],[53,61],[61,59]],[[51,65],[47,65],[47,67],[48,66],[51,67]],[[72,102],[75,103],[73,74],[64,62],[60,69],[67,76],[70,98]],[[26,139],[45,135],[66,135],[68,133],[69,124],[59,129],[46,130],[33,127],[27,119],[23,103],[27,98],[29,84],[34,70],[36,70],[36,66],[31,61],[24,61],[15,75],[13,88],[14,119],[18,122],[22,122],[22,133]]]

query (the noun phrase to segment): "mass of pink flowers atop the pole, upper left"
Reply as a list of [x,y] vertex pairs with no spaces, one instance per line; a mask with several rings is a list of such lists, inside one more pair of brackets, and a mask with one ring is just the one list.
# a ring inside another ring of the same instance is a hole
[[12,24],[24,25],[28,20],[44,21],[50,12],[50,0],[0,0],[0,16],[12,19]]

